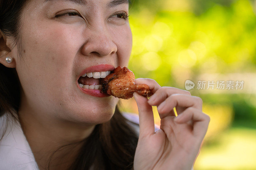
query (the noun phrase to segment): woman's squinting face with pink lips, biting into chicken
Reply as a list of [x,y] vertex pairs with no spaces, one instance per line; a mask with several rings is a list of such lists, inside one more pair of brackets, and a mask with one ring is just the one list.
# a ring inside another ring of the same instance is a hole
[[[132,48],[128,5],[127,0],[29,1],[21,14],[22,58],[14,57],[26,107],[72,122],[108,121],[118,99],[84,92],[78,78],[127,67]],[[96,85],[99,79],[87,81]]]

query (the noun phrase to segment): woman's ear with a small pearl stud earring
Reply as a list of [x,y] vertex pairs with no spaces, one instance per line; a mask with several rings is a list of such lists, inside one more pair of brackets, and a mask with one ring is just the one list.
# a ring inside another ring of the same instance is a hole
[[[11,42],[11,39],[7,38],[0,30],[0,63],[5,67],[15,68],[15,59],[12,56],[12,51],[8,47],[10,44],[7,42]],[[12,63],[7,63],[5,61],[6,57],[12,58]]]

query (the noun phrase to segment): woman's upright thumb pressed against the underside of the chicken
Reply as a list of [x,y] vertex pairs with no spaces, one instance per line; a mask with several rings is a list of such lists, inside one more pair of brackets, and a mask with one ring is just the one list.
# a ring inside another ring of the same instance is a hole
[[139,110],[140,136],[148,136],[155,133],[155,123],[152,106],[148,104],[148,98],[133,93]]

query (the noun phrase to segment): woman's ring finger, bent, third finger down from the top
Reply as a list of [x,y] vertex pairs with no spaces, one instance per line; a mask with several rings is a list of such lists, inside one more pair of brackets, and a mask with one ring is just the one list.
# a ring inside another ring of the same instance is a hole
[[[202,99],[197,96],[188,96],[185,94],[172,94],[160,105],[157,106],[159,115],[164,118],[166,113],[169,113],[174,107],[180,107],[185,110],[187,107],[195,107],[202,110]],[[178,112],[177,112],[178,113]],[[181,113],[181,112],[180,112]],[[178,113],[178,114],[180,114]]]

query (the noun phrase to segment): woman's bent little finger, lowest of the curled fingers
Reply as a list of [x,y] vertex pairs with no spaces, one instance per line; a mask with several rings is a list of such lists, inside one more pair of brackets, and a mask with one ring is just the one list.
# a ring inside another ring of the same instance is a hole
[[175,117],[174,121],[177,123],[192,121],[194,135],[201,137],[203,140],[210,122],[210,117],[194,107],[188,107],[184,112]]

